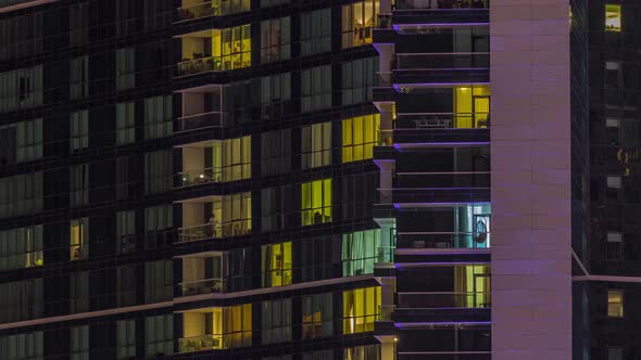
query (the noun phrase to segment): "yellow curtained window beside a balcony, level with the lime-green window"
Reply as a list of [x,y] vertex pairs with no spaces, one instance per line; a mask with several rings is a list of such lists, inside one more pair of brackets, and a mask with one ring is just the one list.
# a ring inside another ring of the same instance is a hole
[[240,236],[251,232],[251,193],[224,196],[222,202],[214,202],[213,213],[214,219],[223,220],[223,236]]

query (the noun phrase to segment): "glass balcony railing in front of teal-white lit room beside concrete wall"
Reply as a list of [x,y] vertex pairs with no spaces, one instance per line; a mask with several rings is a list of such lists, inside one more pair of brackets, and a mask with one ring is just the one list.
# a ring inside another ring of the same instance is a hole
[[398,234],[398,248],[490,248],[490,232]]

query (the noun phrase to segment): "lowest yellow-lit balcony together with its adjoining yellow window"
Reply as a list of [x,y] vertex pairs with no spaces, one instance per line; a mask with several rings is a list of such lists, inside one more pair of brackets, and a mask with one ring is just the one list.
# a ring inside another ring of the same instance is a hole
[[183,313],[179,352],[251,346],[251,304],[227,308],[204,308]]

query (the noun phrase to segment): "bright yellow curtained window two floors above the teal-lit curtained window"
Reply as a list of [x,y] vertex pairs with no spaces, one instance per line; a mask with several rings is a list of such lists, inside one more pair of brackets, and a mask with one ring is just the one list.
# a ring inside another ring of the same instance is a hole
[[380,114],[342,120],[342,162],[356,162],[374,156],[378,144]]

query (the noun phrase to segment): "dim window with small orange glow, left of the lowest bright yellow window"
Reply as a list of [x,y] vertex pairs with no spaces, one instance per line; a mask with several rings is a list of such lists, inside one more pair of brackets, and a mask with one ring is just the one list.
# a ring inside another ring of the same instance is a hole
[[303,297],[303,338],[331,336],[334,332],[331,293]]

